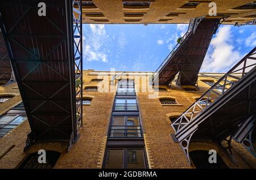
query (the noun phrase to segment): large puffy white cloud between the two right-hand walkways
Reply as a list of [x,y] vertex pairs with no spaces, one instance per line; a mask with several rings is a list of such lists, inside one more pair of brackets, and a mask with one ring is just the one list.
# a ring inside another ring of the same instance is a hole
[[201,72],[227,72],[242,55],[234,50],[230,26],[221,27],[210,43]]

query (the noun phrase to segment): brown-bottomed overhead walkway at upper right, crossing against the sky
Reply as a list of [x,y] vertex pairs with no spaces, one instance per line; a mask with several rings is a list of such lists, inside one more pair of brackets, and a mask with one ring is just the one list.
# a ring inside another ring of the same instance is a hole
[[192,19],[181,38],[150,79],[151,85],[169,85],[175,79],[179,86],[197,87],[197,75],[207,53],[210,40],[224,19]]

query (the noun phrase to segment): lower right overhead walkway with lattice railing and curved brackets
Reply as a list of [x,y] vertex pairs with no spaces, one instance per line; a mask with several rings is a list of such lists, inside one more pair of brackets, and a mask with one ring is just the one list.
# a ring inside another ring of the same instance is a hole
[[[237,72],[241,72],[241,76],[235,76]],[[230,78],[233,78],[232,83]],[[255,114],[256,48],[172,123],[175,131],[173,137],[179,142],[189,162],[189,142],[195,139],[211,139],[220,144],[225,141],[228,145],[224,148],[232,157],[230,143],[233,136],[238,142],[255,139],[247,136],[255,131],[255,123],[250,123],[249,130],[245,128],[249,123],[243,125],[246,121],[251,122],[250,119],[254,120]],[[253,151],[253,148],[250,149]]]

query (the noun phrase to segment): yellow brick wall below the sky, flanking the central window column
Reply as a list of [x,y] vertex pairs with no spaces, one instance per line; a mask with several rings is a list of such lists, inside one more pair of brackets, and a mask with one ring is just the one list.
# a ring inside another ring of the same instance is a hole
[[[99,85],[99,82],[90,82],[97,75],[88,75],[91,71],[84,71],[84,87],[86,85]],[[101,76],[100,76],[101,78]],[[110,76],[104,76],[109,82]],[[122,78],[122,77],[121,77]],[[159,96],[175,97],[179,106],[162,106],[159,98],[148,98],[150,92],[140,92],[142,80],[139,76],[129,77],[135,79],[137,98],[141,112],[144,130],[144,142],[148,158],[149,168],[195,168],[189,165],[178,143],[174,143],[170,115],[179,115],[184,112],[209,86],[199,80],[200,92],[185,92],[178,87],[168,89],[168,92],[159,92]],[[211,78],[200,78],[211,79]],[[18,93],[13,89],[16,84],[0,87],[0,93]],[[116,85],[116,84],[115,84]],[[114,86],[113,86],[114,89]],[[101,168],[104,159],[107,131],[112,113],[115,92],[83,91],[84,97],[91,97],[91,105],[83,105],[83,127],[80,129],[80,137],[67,152],[67,142],[36,142],[28,151],[23,152],[23,147],[30,132],[27,121],[16,127],[9,134],[0,139],[0,168],[16,168],[30,153],[39,149],[61,152],[55,168]],[[15,96],[9,103],[2,104],[2,112],[9,110],[20,101],[20,96]],[[0,104],[1,105],[1,104]],[[255,158],[247,152],[241,144],[232,142],[234,157],[238,165],[234,165],[225,151],[216,143],[209,140],[192,142],[190,151],[216,149],[222,160],[229,168],[255,168]]]

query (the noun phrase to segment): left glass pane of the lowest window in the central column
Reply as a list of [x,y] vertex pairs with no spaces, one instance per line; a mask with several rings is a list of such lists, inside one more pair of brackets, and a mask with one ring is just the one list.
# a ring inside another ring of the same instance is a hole
[[123,149],[108,149],[105,168],[106,169],[123,168]]

